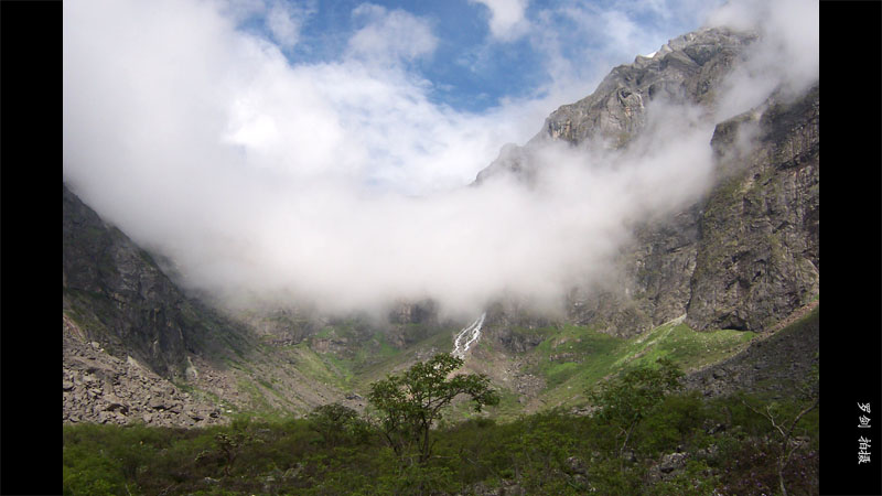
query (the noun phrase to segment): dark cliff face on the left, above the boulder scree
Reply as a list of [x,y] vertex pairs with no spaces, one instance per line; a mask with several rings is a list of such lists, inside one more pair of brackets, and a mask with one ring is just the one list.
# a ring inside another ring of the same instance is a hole
[[88,341],[166,378],[183,378],[187,354],[241,333],[187,298],[150,255],[64,186],[64,313]]

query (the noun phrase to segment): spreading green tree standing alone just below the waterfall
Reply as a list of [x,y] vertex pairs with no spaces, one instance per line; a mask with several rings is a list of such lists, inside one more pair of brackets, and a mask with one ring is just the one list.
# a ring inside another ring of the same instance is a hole
[[499,403],[487,376],[452,375],[462,364],[461,358],[438,354],[401,375],[370,385],[368,401],[380,412],[380,432],[398,456],[416,449],[420,464],[431,457],[429,432],[441,420],[444,407],[458,396],[467,395],[478,412],[484,406]]

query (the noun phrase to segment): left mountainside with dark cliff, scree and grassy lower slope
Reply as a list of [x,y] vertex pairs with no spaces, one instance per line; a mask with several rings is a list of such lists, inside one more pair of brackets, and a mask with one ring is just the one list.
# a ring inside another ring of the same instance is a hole
[[[314,352],[268,346],[254,322],[181,290],[66,184],[63,198],[65,422],[207,425],[240,411],[303,413],[346,401],[326,370],[310,374]],[[270,317],[275,328],[309,330]]]

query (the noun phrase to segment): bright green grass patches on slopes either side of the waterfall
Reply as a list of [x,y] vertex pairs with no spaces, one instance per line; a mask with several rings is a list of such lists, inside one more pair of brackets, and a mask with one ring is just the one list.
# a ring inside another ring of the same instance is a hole
[[[326,328],[329,335],[334,332]],[[377,333],[370,344],[352,356],[315,353],[306,344],[297,345],[298,369],[312,380],[366,395],[370,384],[388,374],[409,366],[418,354],[438,353],[452,347],[456,330],[444,330],[407,347],[398,349]],[[585,401],[585,390],[606,377],[624,370],[652,365],[667,357],[684,370],[697,369],[719,362],[741,349],[755,336],[751,332],[718,330],[696,332],[682,323],[659,325],[628,339],[611,336],[590,327],[578,325],[539,328],[514,328],[516,334],[537,336],[541,343],[525,354],[533,363],[524,371],[542,378],[546,388],[539,401],[545,408],[577,407]],[[478,344],[483,353],[496,354],[491,341]],[[497,419],[514,419],[524,412],[520,395],[498,387],[499,406],[488,410]],[[453,419],[469,419],[475,414],[466,402],[456,403],[449,413]]]

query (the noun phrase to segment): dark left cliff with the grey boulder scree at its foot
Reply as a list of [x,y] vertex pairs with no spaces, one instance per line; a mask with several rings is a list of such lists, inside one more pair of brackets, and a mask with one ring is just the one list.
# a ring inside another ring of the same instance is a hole
[[147,251],[66,185],[63,233],[64,421],[226,421],[218,405],[175,382],[220,392],[223,381],[212,380],[206,360],[250,349],[246,331],[187,298]]

